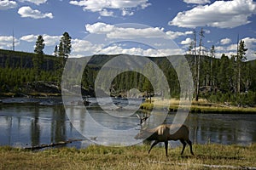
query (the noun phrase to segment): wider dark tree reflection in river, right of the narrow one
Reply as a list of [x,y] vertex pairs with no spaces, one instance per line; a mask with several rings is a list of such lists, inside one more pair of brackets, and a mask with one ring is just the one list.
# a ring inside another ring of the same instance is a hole
[[52,112],[52,120],[50,127],[51,142],[59,142],[67,139],[66,123],[65,123],[65,109],[62,105],[54,105]]

